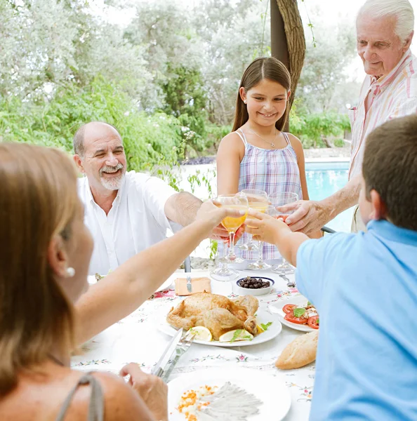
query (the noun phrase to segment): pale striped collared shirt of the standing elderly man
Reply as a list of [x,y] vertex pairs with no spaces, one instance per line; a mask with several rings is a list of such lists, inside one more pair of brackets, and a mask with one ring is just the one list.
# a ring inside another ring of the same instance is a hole
[[366,76],[357,107],[349,110],[352,150],[349,179],[362,173],[364,140],[390,119],[417,112],[417,58],[408,50],[387,76]]

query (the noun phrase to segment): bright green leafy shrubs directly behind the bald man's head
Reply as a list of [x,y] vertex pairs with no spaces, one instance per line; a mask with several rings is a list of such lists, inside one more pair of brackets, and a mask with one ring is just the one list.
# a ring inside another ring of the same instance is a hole
[[86,88],[72,84],[58,89],[42,104],[8,98],[0,103],[3,140],[31,142],[72,151],[72,137],[81,124],[106,121],[117,127],[124,140],[128,170],[171,164],[182,156],[180,122],[164,113],[138,112],[113,83],[98,76]]

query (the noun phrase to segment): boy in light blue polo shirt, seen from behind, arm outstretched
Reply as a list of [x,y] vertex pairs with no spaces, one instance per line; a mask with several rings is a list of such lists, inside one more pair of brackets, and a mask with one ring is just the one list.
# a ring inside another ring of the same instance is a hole
[[359,209],[368,232],[308,239],[256,213],[248,229],[297,266],[319,312],[310,420],[417,420],[417,116],[366,140]]

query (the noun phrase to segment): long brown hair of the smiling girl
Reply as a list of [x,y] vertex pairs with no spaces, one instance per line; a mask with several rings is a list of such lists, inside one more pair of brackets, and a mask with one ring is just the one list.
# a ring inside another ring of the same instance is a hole
[[[246,68],[243,76],[241,76],[240,88],[244,88],[245,91],[258,85],[263,79],[274,81],[283,86],[287,91],[291,89],[291,76],[285,65],[274,57],[260,57],[256,58]],[[285,126],[286,120],[288,119],[289,107],[282,117],[275,123],[275,127],[282,131]],[[240,98],[239,92],[237,93],[236,110],[234,112],[234,123],[232,131],[237,129],[246,123],[249,119],[248,109]]]

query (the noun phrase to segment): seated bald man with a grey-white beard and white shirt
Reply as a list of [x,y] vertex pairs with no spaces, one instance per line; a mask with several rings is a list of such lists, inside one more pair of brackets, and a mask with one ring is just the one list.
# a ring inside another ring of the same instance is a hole
[[[126,154],[119,132],[93,121],[74,135],[74,162],[85,222],[94,239],[88,273],[105,275],[136,253],[166,238],[171,222],[185,227],[194,221],[201,200],[176,192],[163,180],[126,172]],[[227,238],[219,226],[213,237]]]

